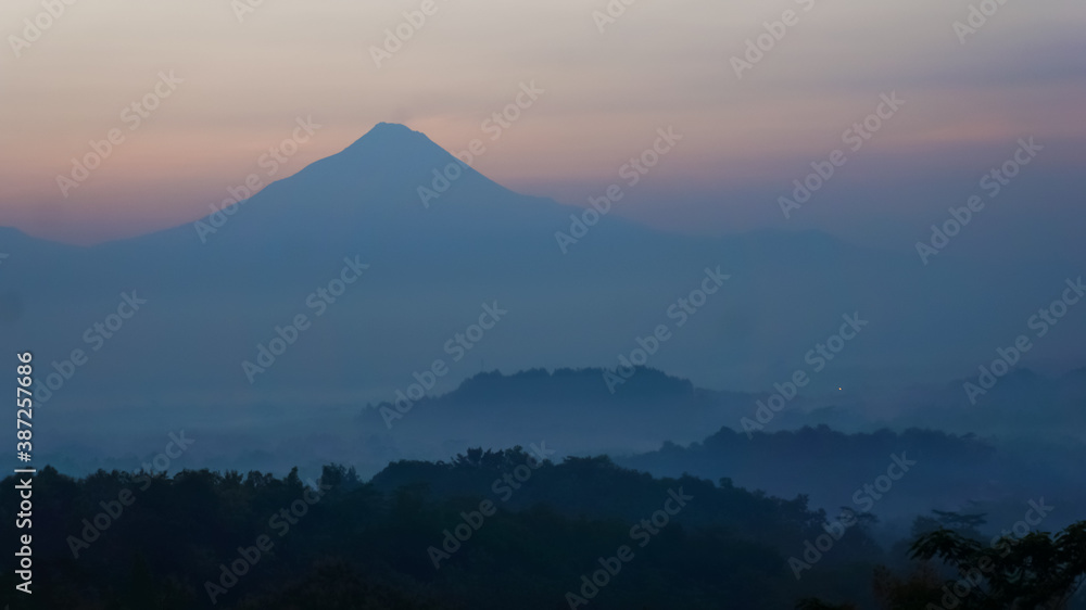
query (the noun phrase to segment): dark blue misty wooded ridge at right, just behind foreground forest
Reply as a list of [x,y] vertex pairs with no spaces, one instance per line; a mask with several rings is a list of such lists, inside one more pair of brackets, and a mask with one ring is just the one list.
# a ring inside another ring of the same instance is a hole
[[986,513],[985,531],[998,532],[1039,499],[1058,507],[1046,530],[1066,525],[1086,511],[1077,482],[1084,459],[1082,442],[1008,442],[921,429],[846,434],[819,425],[750,437],[723,428],[698,443],[667,443],[616,462],[657,476],[727,478],[771,495],[805,494],[828,512],[842,506],[870,511],[904,536],[914,517],[932,509]]

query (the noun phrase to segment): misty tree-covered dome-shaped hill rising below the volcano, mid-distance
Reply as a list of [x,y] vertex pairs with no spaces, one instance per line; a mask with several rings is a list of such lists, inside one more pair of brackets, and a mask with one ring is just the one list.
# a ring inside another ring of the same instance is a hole
[[[472,446],[548,443],[559,455],[613,455],[656,448],[664,441],[700,440],[706,430],[737,421],[754,397],[698,390],[690,381],[639,368],[615,393],[604,369],[533,369],[479,373],[446,394],[363,410],[367,445],[401,456],[445,459]],[[402,405],[402,403],[401,403]]]

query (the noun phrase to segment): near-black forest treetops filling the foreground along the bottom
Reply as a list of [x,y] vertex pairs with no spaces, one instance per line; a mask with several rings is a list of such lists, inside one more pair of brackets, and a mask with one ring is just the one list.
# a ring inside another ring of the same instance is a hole
[[15,592],[11,554],[0,580],[12,609],[1034,610],[1066,607],[1086,573],[1086,524],[993,546],[974,542],[983,518],[940,513],[884,550],[870,513],[545,455],[471,450],[369,482],[46,468],[30,530],[0,499],[5,539],[33,534],[34,593]]

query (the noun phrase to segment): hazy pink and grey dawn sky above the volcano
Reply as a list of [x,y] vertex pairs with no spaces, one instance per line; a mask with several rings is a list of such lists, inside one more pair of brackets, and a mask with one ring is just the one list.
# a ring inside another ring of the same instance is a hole
[[[39,237],[93,243],[204,216],[310,119],[319,128],[275,179],[395,122],[454,153],[480,139],[471,164],[490,178],[583,205],[671,128],[682,140],[619,214],[905,249],[1032,137],[1044,150],[989,216],[987,252],[1083,253],[1077,0],[61,5],[56,17],[33,0],[0,7],[0,225]],[[36,36],[24,20],[48,27]],[[395,48],[397,27],[409,39]],[[747,55],[759,36],[766,50]],[[485,122],[525,87],[535,99],[494,139]],[[883,94],[904,104],[850,150],[843,136]],[[138,115],[147,96],[156,107]],[[123,141],[101,166],[58,183],[114,129]],[[785,217],[779,198],[838,149],[847,163]]]

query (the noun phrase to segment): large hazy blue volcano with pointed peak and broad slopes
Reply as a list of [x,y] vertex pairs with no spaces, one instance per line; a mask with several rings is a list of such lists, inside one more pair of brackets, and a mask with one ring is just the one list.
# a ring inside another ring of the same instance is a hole
[[[457,177],[424,205],[442,171]],[[302,420],[391,402],[434,367],[431,395],[481,370],[615,369],[620,356],[703,387],[768,391],[799,369],[805,395],[906,385],[973,373],[1074,272],[925,268],[909,244],[816,232],[670,234],[618,212],[563,253],[556,232],[591,219],[583,208],[509,191],[389,124],[228,211],[92,247],[0,232],[0,325],[34,351],[50,424],[128,406],[151,415],[123,425],[148,433],[184,423],[166,407],[290,406]],[[122,317],[126,298],[146,303]],[[845,315],[870,325],[816,372],[805,356]],[[1084,319],[1036,353],[1076,354]]]

